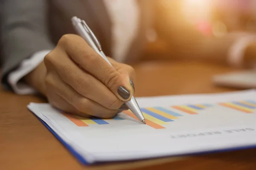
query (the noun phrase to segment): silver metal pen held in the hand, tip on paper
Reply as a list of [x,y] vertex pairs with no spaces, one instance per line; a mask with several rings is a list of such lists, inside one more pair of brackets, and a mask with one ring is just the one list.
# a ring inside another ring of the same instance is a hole
[[[93,32],[90,30],[90,28],[87,26],[87,24],[84,22],[84,20],[80,20],[78,17],[72,17],[72,24],[75,27],[77,33],[86,40],[88,45],[90,45],[91,48],[93,48],[102,58],[104,58],[108,64],[111,65],[111,63],[108,61],[108,58],[105,56],[105,54],[102,51],[101,45]],[[112,65],[111,65],[112,66]],[[132,113],[134,113],[137,118],[146,124],[145,118],[140,110],[140,107],[134,98],[134,96],[131,97],[129,101],[124,102],[125,105],[131,110]]]

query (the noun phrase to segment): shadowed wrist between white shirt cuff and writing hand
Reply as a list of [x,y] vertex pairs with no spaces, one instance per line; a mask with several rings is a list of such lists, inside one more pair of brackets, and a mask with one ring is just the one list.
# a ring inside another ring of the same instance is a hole
[[33,71],[23,77],[23,81],[38,90],[41,94],[46,95],[46,87],[44,83],[46,71],[44,62],[41,62]]

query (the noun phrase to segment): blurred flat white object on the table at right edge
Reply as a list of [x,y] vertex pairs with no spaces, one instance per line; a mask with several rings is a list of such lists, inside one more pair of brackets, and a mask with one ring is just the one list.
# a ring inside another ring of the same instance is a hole
[[256,70],[236,71],[215,75],[212,78],[215,85],[231,88],[256,88]]

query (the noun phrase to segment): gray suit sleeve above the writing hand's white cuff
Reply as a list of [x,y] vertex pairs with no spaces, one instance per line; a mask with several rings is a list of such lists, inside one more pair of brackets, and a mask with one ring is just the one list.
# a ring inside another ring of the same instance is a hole
[[6,81],[10,71],[36,51],[52,49],[54,45],[48,33],[47,0],[4,0],[2,12],[1,82],[10,88]]

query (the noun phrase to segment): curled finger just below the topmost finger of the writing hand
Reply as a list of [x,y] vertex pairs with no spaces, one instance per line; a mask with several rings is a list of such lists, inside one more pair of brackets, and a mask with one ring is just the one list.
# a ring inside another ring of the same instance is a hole
[[[61,57],[53,57],[56,55]],[[103,85],[102,82],[82,71],[63,51],[53,51],[44,60],[47,62],[47,65],[52,65],[48,66],[47,70],[55,69],[52,72],[57,72],[65,83],[70,85],[82,96],[111,110],[117,110],[122,105],[123,102]]]

